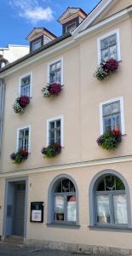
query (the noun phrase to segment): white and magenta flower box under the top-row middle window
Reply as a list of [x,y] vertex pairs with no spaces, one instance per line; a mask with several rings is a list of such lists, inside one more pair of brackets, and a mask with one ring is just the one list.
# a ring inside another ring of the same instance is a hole
[[48,84],[46,87],[43,87],[42,93],[43,97],[55,97],[60,94],[62,90],[62,85],[58,83]]

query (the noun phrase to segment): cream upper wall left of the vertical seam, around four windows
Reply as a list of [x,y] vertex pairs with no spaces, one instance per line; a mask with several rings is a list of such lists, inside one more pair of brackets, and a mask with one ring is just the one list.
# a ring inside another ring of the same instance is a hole
[[[38,166],[58,165],[81,160],[79,127],[79,49],[76,47],[56,55],[55,59],[64,58],[64,89],[54,100],[44,98],[41,89],[47,84],[47,69],[49,61],[43,60],[36,67],[23,70],[21,73],[6,80],[5,112],[3,127],[3,172],[17,169],[27,169]],[[26,108],[26,113],[18,115],[12,108],[18,96],[19,78],[24,73],[32,71],[32,100]],[[47,119],[64,116],[64,148],[60,156],[53,160],[43,159],[41,148],[46,146]],[[76,118],[75,118],[76,117]],[[9,159],[10,153],[16,150],[17,128],[32,125],[31,154],[28,160],[20,166],[15,166]],[[72,134],[72,137],[69,137]],[[70,148],[70,149],[69,149]],[[76,150],[75,150],[76,148]]]

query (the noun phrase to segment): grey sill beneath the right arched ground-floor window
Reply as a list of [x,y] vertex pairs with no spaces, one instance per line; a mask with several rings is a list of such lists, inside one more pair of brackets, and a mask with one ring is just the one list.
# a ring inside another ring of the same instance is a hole
[[89,225],[89,230],[131,230],[132,231],[132,227],[129,227],[127,225],[124,225],[124,226],[110,226],[110,225],[107,225],[107,226],[104,226],[104,225]]

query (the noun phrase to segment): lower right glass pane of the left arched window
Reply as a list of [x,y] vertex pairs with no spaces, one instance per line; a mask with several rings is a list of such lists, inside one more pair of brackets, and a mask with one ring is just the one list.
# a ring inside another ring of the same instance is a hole
[[67,221],[76,221],[76,196],[70,195],[67,196],[67,205],[66,205],[66,220]]

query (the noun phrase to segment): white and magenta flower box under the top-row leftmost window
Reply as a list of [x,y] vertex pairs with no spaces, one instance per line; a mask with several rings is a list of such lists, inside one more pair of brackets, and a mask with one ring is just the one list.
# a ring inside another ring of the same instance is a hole
[[20,96],[18,97],[13,105],[15,113],[24,113],[26,105],[29,104],[30,97],[28,96]]

